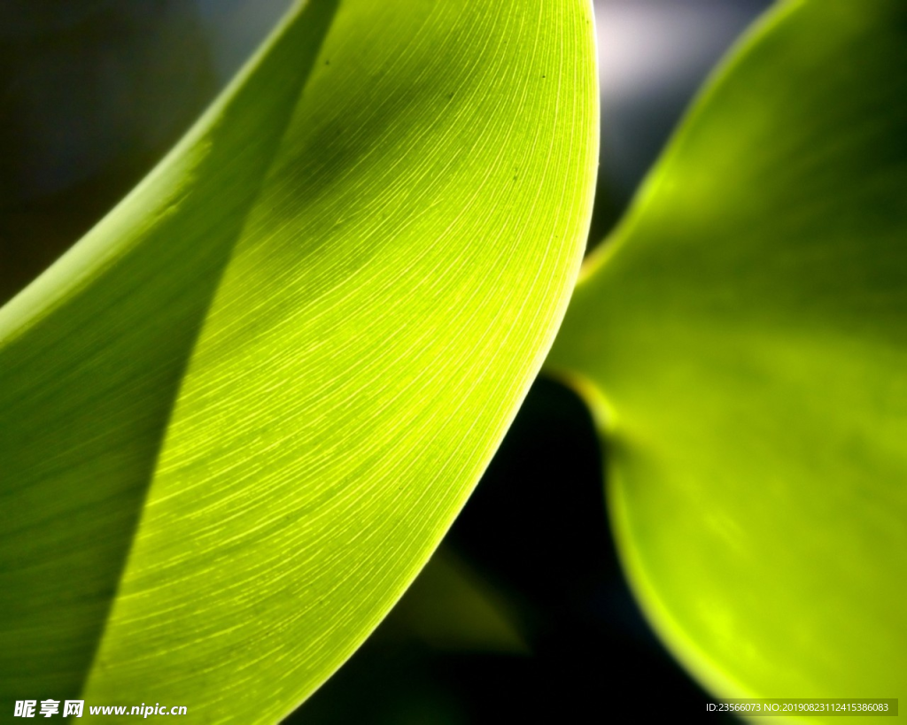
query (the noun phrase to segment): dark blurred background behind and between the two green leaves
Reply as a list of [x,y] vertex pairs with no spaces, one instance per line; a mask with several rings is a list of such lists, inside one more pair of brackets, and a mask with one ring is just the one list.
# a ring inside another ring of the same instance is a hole
[[[0,3],[0,303],[161,159],[288,4]],[[601,160],[590,246],[769,4],[596,0]],[[727,721],[707,715],[706,693],[629,593],[604,507],[606,458],[579,399],[536,382],[441,551],[290,721]],[[653,712],[662,705],[670,710]]]

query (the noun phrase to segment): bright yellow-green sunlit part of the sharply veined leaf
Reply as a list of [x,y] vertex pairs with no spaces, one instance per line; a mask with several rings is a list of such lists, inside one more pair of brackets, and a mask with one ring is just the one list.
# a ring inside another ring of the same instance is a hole
[[[145,431],[151,483],[138,489],[141,517],[88,701],[153,691],[207,719],[258,721],[304,699],[403,593],[463,505],[579,266],[596,144],[588,4],[350,0],[333,14],[312,3],[259,63],[303,52],[307,13],[330,29],[307,45],[314,71],[288,101],[260,183],[242,163],[211,170],[220,193],[254,189],[235,237],[218,246],[222,272],[185,369],[176,365],[160,451]],[[273,81],[255,68],[241,88],[267,95]],[[236,137],[221,146],[187,144],[229,157],[249,131],[230,128]],[[216,216],[215,197],[199,200],[195,223],[180,205],[148,213],[139,196],[113,218],[147,213],[152,231],[170,220],[192,238]],[[53,292],[62,274],[38,289]],[[91,347],[57,355],[46,374],[68,367],[63,381],[77,384],[73,360]],[[133,375],[151,385],[144,362]],[[54,415],[71,430],[66,411]],[[94,594],[96,605],[109,596]],[[239,699],[230,683],[241,683]]]

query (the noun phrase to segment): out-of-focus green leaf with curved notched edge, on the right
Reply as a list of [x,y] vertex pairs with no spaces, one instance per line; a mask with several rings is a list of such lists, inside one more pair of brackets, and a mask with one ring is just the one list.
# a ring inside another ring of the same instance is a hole
[[784,3],[583,275],[632,584],[721,695],[907,698],[907,5]]

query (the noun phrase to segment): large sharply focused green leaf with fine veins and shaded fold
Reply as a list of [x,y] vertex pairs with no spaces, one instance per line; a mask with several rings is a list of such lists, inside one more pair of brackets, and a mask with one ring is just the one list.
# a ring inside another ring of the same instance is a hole
[[291,710],[431,555],[551,344],[582,0],[297,5],[0,311],[4,701]]

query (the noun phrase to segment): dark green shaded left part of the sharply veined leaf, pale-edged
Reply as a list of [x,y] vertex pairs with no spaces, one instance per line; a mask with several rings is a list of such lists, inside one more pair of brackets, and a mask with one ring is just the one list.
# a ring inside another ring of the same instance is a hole
[[[290,43],[259,54],[131,196],[0,313],[10,698],[80,691],[200,320],[331,5],[307,8]],[[231,165],[243,174],[225,183]]]

